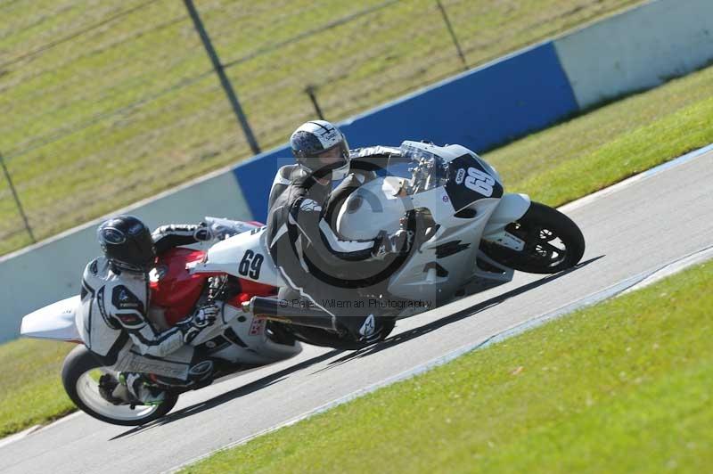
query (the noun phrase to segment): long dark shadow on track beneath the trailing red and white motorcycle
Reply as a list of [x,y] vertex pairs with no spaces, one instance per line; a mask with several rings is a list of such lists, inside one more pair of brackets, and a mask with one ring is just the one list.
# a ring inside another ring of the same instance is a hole
[[271,385],[275,385],[276,383],[286,379],[287,376],[290,375],[291,373],[298,372],[302,369],[309,367],[312,364],[318,364],[320,362],[328,360],[328,359],[332,358],[333,356],[337,356],[337,355],[341,354],[342,352],[343,352],[342,350],[334,349],[326,354],[323,354],[322,356],[312,357],[311,359],[307,359],[304,362],[300,362],[299,364],[295,364],[295,365],[292,365],[291,367],[287,367],[286,369],[283,369],[280,372],[275,372],[270,375],[267,375],[266,377],[263,377],[260,380],[255,380],[253,382],[250,382],[248,385],[243,385],[242,387],[234,388],[233,390],[230,390],[229,392],[225,392],[224,394],[216,396],[209,400],[206,400],[205,402],[187,406],[181,410],[178,410],[177,412],[169,413],[167,416],[165,416],[159,420],[152,421],[151,423],[148,423],[146,425],[137,426],[135,428],[129,429],[128,431],[124,431],[123,433],[120,433],[119,435],[112,437],[110,439],[110,441],[119,439],[121,437],[133,436],[135,434],[141,433],[141,432],[149,430],[149,429],[157,428],[162,425],[167,425],[168,423],[172,423],[174,421],[181,420],[187,416],[193,416],[194,414],[201,413],[206,410],[210,410],[211,408],[215,408],[218,405],[225,404],[225,402],[229,402],[229,401],[233,400],[234,398],[239,398],[241,396],[246,396],[253,392],[257,392],[258,390],[269,387]]

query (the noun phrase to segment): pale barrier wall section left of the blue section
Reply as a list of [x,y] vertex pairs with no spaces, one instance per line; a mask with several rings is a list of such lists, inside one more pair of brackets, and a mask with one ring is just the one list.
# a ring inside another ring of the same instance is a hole
[[[130,213],[155,228],[169,222],[197,223],[206,216],[250,220],[252,215],[230,170],[221,170],[136,203]],[[0,259],[0,342],[14,339],[23,315],[79,293],[87,262],[99,255],[97,219]]]

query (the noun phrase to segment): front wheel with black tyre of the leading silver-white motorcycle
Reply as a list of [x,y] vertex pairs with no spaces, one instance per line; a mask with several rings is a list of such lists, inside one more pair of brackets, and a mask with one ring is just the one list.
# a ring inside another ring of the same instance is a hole
[[484,241],[480,249],[496,262],[520,272],[556,274],[576,266],[585,253],[585,238],[578,225],[539,202],[533,201],[528,212],[505,230],[525,241],[525,248],[517,251]]

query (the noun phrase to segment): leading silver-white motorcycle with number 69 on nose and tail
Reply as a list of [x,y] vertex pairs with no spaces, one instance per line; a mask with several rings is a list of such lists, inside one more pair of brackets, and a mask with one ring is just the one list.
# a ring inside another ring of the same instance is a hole
[[[337,216],[336,231],[346,240],[406,229],[414,235],[410,251],[376,263],[345,262],[340,274],[316,275],[325,285],[373,297],[375,312],[390,323],[510,282],[514,270],[554,274],[583,256],[584,237],[569,217],[525,194],[504,193],[496,170],[473,151],[407,141],[401,155],[389,161],[385,176],[332,195],[327,215]],[[193,271],[282,286],[265,229],[218,242]],[[243,306],[250,315],[283,323],[296,339],[360,347],[323,310],[339,303],[257,296]]]

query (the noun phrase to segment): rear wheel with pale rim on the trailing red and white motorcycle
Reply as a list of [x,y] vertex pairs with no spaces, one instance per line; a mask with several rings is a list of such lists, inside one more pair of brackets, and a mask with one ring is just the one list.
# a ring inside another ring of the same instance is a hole
[[167,394],[160,405],[113,405],[99,393],[99,379],[103,374],[118,374],[102,363],[85,346],[72,349],[64,359],[61,381],[74,405],[97,420],[122,426],[139,426],[158,420],[171,411],[178,396]]

